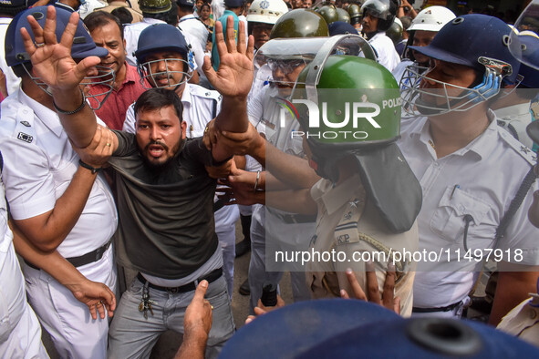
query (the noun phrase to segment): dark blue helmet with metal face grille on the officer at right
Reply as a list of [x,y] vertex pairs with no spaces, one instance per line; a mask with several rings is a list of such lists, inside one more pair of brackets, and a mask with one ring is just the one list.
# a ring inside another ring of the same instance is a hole
[[[509,51],[511,27],[489,15],[462,15],[441,28],[429,46],[409,48],[435,60],[472,67],[481,77],[470,88],[454,86],[428,77],[425,67],[407,67],[401,79],[403,109],[409,115],[442,115],[451,111],[466,111],[500,92],[502,83],[515,84],[520,77],[519,61]],[[441,84],[439,92],[421,88],[422,80]],[[476,85],[479,83],[479,85]],[[448,88],[459,95],[450,96]],[[423,95],[438,97],[437,103],[425,102]]]

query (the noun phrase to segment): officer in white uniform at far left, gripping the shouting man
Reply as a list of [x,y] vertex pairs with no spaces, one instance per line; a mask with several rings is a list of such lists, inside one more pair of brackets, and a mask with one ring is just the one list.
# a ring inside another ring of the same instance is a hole
[[[59,39],[70,13],[57,9]],[[82,275],[114,291],[116,270],[111,237],[117,212],[107,181],[98,170],[79,160],[62,129],[52,97],[33,78],[20,34],[30,28],[27,15],[43,26],[47,7],[17,15],[6,35],[5,59],[21,77],[22,87],[2,102],[0,149],[4,155],[5,197],[17,227],[41,251],[57,250]],[[82,22],[78,22],[71,55],[105,56]],[[44,39],[32,38],[36,46]],[[109,76],[109,74],[108,74]],[[96,223],[99,225],[96,226]],[[36,263],[34,263],[36,264]],[[34,264],[23,264],[28,301],[51,334],[62,357],[105,357],[109,323],[92,320],[88,306],[78,302],[64,285]]]

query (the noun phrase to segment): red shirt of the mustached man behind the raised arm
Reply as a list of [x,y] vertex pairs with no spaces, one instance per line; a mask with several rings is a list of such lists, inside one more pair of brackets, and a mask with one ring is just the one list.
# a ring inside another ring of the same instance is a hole
[[[137,67],[132,67],[126,63],[126,78],[118,89],[113,89],[109,97],[103,103],[103,106],[96,110],[98,118],[112,129],[121,129],[126,113],[130,105],[146,91],[146,88],[140,84],[140,76]],[[150,88],[150,84],[146,81],[146,87]],[[107,91],[109,87],[103,85],[92,85],[89,89],[90,94],[100,94]],[[98,97],[102,101],[102,97]]]

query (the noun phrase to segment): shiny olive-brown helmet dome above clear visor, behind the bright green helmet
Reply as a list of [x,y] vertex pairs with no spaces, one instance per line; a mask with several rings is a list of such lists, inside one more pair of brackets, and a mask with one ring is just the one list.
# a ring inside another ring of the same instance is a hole
[[279,17],[272,29],[270,39],[319,36],[329,36],[324,17],[313,10],[295,9]]

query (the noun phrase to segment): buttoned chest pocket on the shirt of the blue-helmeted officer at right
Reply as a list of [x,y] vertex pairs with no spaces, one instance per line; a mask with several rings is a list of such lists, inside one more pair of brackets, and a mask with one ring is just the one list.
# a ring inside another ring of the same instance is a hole
[[459,188],[445,190],[430,220],[430,229],[451,243],[463,242],[467,219],[468,248],[490,248],[497,228],[492,206]]

